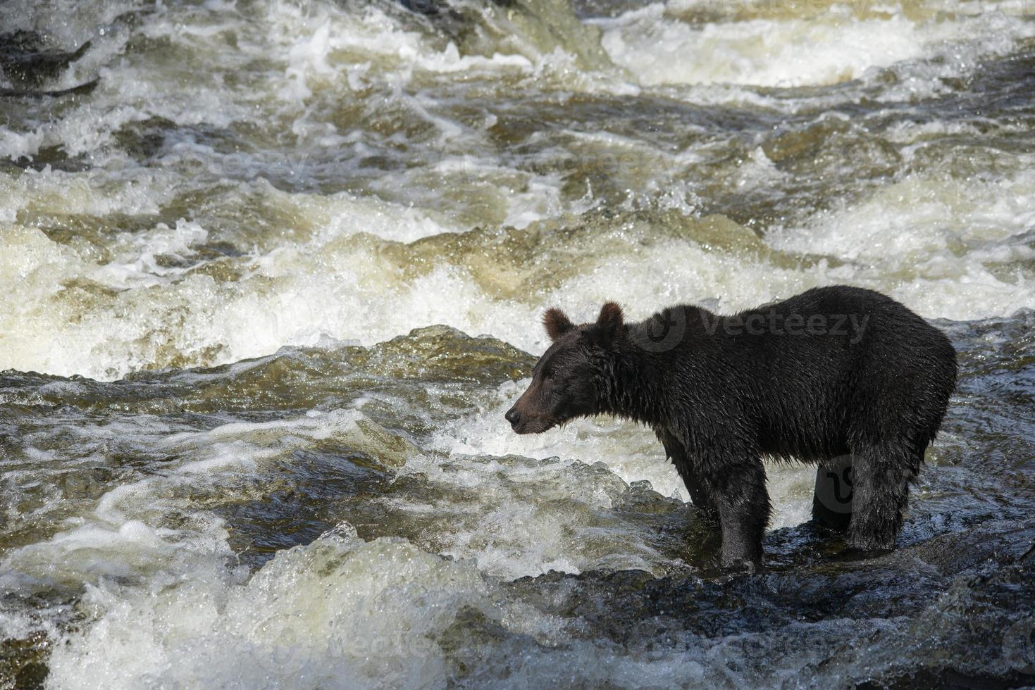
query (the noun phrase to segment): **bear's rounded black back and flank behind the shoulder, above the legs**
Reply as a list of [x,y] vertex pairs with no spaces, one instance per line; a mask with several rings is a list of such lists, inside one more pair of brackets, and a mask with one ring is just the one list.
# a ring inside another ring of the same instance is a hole
[[870,290],[815,288],[729,317],[676,308],[706,407],[771,455],[822,460],[861,436],[929,442],[955,386],[948,338]]

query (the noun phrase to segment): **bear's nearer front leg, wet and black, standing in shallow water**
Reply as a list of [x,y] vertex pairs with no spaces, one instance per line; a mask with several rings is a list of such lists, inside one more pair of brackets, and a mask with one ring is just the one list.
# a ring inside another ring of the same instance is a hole
[[722,529],[722,567],[761,565],[770,511],[762,460],[739,458],[708,464],[713,468],[710,497]]

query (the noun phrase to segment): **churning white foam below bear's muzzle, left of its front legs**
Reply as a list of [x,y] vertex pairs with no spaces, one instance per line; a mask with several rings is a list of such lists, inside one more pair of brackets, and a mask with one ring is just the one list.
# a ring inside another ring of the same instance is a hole
[[411,459],[403,471],[410,474],[421,475],[436,499],[392,501],[392,510],[426,522],[440,552],[495,577],[600,569],[660,574],[679,563],[618,512],[628,485],[602,466],[456,454]]

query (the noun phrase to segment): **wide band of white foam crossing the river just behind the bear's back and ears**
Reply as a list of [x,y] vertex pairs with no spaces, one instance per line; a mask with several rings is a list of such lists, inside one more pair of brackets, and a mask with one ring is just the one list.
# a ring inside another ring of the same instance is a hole
[[[630,319],[643,319],[666,304],[717,299],[729,311],[831,282],[887,292],[926,317],[1009,314],[1033,303],[1030,281],[1023,274],[1004,278],[990,266],[1024,251],[1016,238],[1030,223],[1030,186],[1025,176],[1005,184],[905,180],[858,207],[818,216],[811,228],[766,240],[778,250],[844,262],[837,266],[780,267],[764,245],[724,250],[682,238],[645,245],[616,233],[587,245],[575,274],[557,289],[520,300],[499,295],[498,278],[472,275],[446,258],[408,275],[405,264],[355,232],[414,237],[440,226],[409,209],[353,205],[348,197],[297,202],[316,232],[232,261],[241,276],[230,281],[155,264],[158,244],[184,253],[203,239],[196,224],[157,227],[141,241],[127,236],[108,264],[13,224],[3,232],[9,246],[23,249],[4,256],[0,276],[25,298],[0,305],[0,366],[111,379],[173,361],[238,361],[324,335],[368,344],[436,323],[541,352],[546,342],[537,324],[550,305],[589,319],[613,299]],[[494,261],[491,253],[486,260]],[[67,291],[69,280],[83,277],[119,292]]]

